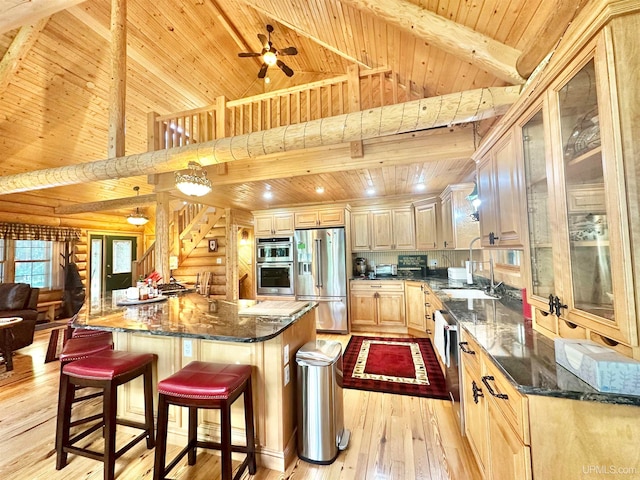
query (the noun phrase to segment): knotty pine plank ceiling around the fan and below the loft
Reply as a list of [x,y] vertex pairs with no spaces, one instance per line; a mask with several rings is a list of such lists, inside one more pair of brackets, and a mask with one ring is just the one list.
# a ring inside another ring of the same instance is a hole
[[[46,1],[34,0],[33,8]],[[24,25],[11,23],[21,3],[30,2],[0,0],[0,57],[10,58]],[[584,0],[128,0],[125,154],[147,150],[149,112],[167,114],[210,105],[220,95],[233,100],[306,84],[344,74],[354,64],[390,67],[401,84],[427,96],[515,83],[401,28],[384,10],[372,10],[376,3],[398,10],[417,6],[519,52],[535,43],[558,4],[572,6],[573,15]],[[41,32],[0,81],[3,176],[107,158],[111,1],[51,4],[68,8],[47,12]],[[37,20],[34,15],[25,19],[27,24]],[[257,78],[259,60],[237,56],[259,51],[257,34],[266,33],[266,24],[274,26],[276,46],[294,45],[299,51],[286,57],[293,77],[276,69],[269,84]],[[251,210],[317,202],[317,185],[325,188],[322,201],[361,199],[368,186],[382,195],[407,195],[430,180],[429,190],[435,192],[468,178],[472,170],[468,158],[453,163],[417,159],[395,167],[245,179],[220,186],[212,199],[218,206]],[[262,197],[267,184],[274,191],[269,202]],[[141,194],[153,191],[146,178],[131,177],[5,195],[0,202],[95,202],[131,197],[134,185],[141,186]]]

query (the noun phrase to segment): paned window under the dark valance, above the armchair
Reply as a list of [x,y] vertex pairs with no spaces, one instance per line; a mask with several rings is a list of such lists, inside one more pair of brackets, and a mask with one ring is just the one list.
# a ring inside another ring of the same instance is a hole
[[28,283],[34,288],[51,286],[52,243],[44,240],[15,241],[14,282]]

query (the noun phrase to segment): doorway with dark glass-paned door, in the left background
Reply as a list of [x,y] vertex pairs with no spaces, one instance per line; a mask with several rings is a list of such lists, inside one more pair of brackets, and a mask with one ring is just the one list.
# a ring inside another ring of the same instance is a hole
[[112,290],[133,285],[133,261],[138,238],[128,235],[89,235],[91,248],[91,301]]

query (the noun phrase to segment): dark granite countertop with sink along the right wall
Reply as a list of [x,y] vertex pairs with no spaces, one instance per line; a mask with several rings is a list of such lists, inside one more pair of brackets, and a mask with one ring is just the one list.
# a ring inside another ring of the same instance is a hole
[[[442,278],[425,282],[443,300],[458,325],[478,342],[521,393],[640,406],[640,396],[599,392],[558,365],[553,340],[535,331],[531,321],[522,316],[522,311],[510,305],[514,302],[452,299],[439,294],[438,290],[478,287],[456,286]],[[519,305],[521,308],[522,304]]]

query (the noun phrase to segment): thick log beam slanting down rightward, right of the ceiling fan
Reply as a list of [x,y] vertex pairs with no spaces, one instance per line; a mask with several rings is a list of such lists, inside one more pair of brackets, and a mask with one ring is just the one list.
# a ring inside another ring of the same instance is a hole
[[341,0],[514,85],[520,51],[407,0]]

